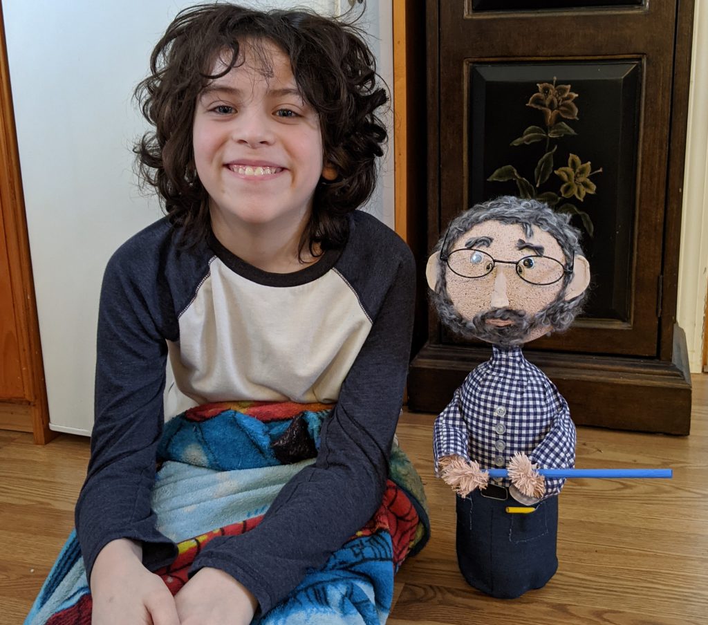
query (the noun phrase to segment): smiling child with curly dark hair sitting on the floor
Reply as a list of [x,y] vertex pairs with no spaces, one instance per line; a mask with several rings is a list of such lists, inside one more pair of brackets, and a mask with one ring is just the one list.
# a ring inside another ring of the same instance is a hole
[[[382,503],[414,266],[355,209],[375,185],[387,96],[355,28],[304,11],[195,6],[150,67],[136,93],[154,130],[135,151],[166,218],[105,270],[76,532],[94,624],[247,624]],[[331,414],[314,464],[258,527],[204,546],[173,597],[151,572],[176,556],[151,503],[164,419],[224,401],[324,403]]]

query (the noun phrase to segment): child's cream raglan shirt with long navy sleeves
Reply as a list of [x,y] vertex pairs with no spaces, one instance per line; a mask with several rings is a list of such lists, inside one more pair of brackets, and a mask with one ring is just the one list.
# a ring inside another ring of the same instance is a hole
[[[89,580],[114,539],[140,541],[150,570],[176,556],[150,507],[156,447],[165,418],[201,403],[320,401],[333,411],[316,462],[258,527],[207,544],[191,573],[226,571],[268,612],[378,508],[408,370],[415,269],[375,217],[348,219],[346,246],[295,273],[253,268],[213,235],[180,250],[166,219],[110,259],[91,461],[76,503]],[[164,392],[168,357],[175,382]]]

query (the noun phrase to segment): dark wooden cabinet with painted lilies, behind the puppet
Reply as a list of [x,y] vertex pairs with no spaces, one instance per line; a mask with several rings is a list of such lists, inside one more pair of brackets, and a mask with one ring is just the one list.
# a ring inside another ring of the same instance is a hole
[[[571,213],[593,270],[587,310],[525,354],[578,424],[687,434],[675,312],[692,0],[426,6],[428,203],[411,207],[427,227],[418,262],[455,215],[496,195]],[[555,172],[581,163],[591,184],[561,193]],[[452,336],[432,312],[416,340],[409,407],[437,412],[489,347]]]

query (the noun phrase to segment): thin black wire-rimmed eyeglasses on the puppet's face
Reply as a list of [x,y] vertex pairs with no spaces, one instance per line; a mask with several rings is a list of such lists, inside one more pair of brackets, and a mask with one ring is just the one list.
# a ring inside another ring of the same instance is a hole
[[496,260],[481,250],[464,248],[453,250],[441,258],[445,260],[453,273],[469,278],[489,275],[497,263],[515,265],[516,275],[521,280],[537,286],[553,285],[564,275],[573,273],[572,262],[570,267],[566,267],[559,260],[547,256],[524,256],[519,260]]

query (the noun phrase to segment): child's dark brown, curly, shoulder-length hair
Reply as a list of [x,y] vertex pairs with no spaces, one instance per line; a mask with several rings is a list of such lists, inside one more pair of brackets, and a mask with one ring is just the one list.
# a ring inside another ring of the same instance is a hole
[[[239,41],[246,38],[257,52],[259,42],[273,42],[290,58],[304,101],[319,115],[324,162],[338,174],[336,180],[321,179],[317,185],[299,249],[309,246],[316,254],[339,247],[346,241],[346,214],[374,190],[375,158],[382,156],[387,139],[376,110],[388,101],[360,30],[341,18],[233,4],[203,4],[178,13],[154,47],[150,75],[135,89],[142,114],[154,127],[135,144],[137,173],[156,189],[164,211],[181,229],[183,243],[206,239],[209,197],[194,166],[195,105],[210,81],[236,67]],[[227,69],[213,75],[218,58]],[[263,67],[270,67],[267,57]]]

